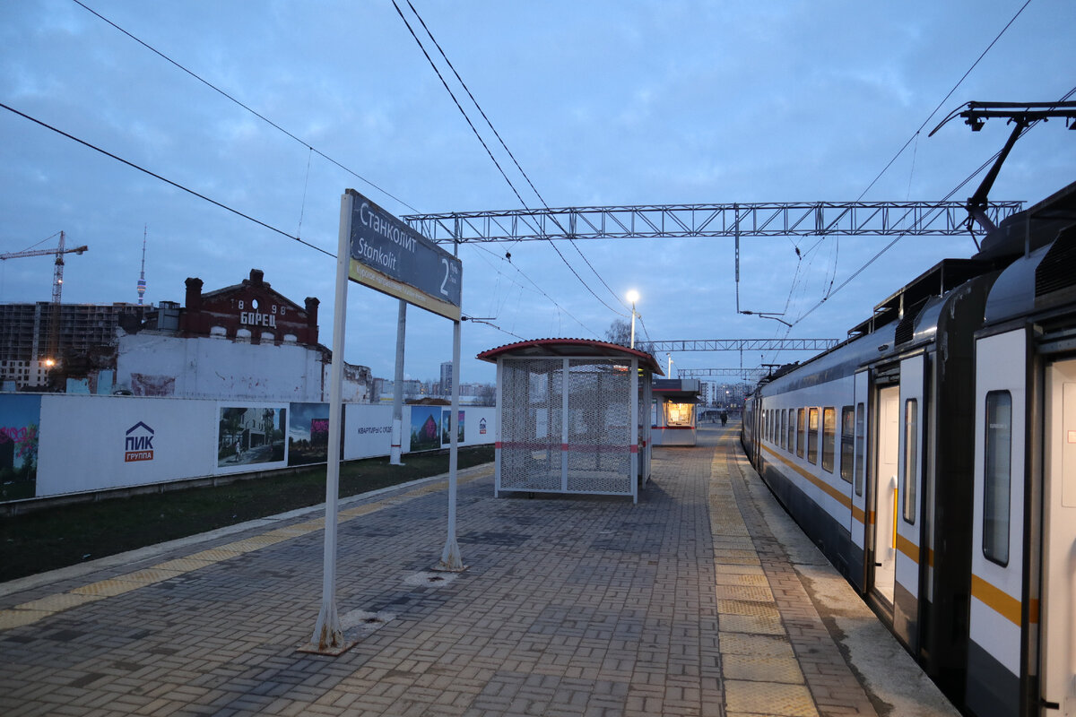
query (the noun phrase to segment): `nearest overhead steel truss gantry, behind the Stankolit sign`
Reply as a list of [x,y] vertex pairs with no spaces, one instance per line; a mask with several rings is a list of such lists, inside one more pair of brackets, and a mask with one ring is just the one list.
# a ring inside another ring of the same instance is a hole
[[[993,224],[1023,202],[990,202]],[[549,239],[951,236],[975,234],[966,202],[758,202],[568,206],[411,214],[402,219],[438,243]],[[978,230],[981,233],[981,230]]]

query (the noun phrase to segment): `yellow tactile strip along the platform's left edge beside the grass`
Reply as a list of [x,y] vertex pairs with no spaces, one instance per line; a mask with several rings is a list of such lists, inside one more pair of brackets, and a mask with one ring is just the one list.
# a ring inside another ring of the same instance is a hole
[[[492,473],[493,469],[477,471],[467,476],[459,476],[457,478],[457,483],[459,485],[464,485],[470,483],[471,481],[487,477]],[[448,485],[449,482],[447,479],[438,481],[419,486],[417,488],[413,488],[412,490],[398,496],[391,496],[372,503],[356,505],[355,507],[340,511],[338,514],[338,521],[346,522],[348,520],[352,520],[363,515],[368,515],[386,507],[399,505],[400,503],[407,502],[412,498],[420,498],[439,490],[444,490],[448,488]],[[246,553],[259,550],[269,545],[275,545],[277,543],[292,540],[293,537],[308,535],[318,530],[323,530],[324,528],[324,517],[306,520],[292,526],[275,528],[261,533],[260,535],[244,537],[243,540],[228,543],[227,545],[218,545],[213,548],[194,553],[183,558],[174,558],[156,565],[151,565],[150,568],[144,568],[124,575],[117,575],[104,580],[98,580],[97,583],[90,583],[77,588],[72,588],[67,592],[38,598],[37,600],[31,600],[8,610],[0,610],[0,630],[10,630],[12,628],[23,627],[24,625],[31,625],[38,620],[48,617],[49,615],[55,615],[56,613],[61,613],[66,610],[71,610],[72,607],[77,607],[80,605],[97,600],[103,600],[105,598],[113,598],[115,596],[145,587],[146,585],[153,585],[154,583],[162,583],[164,580],[171,579],[179,575],[200,570],[207,565],[230,560]]]

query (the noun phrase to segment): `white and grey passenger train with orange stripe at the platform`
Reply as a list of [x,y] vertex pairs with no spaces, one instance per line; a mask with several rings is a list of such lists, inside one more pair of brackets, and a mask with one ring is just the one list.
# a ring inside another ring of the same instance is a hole
[[1076,183],[760,383],[741,441],[957,705],[1076,715]]

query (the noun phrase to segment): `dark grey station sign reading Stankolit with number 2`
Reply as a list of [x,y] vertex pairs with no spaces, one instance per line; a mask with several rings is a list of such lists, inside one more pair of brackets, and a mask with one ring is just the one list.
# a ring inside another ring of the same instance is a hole
[[348,277],[458,321],[459,259],[354,189],[346,195],[351,199]]

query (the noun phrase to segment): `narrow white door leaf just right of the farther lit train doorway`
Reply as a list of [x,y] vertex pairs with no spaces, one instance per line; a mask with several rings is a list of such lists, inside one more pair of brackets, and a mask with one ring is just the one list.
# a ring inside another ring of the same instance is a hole
[[901,421],[897,451],[896,580],[893,588],[893,632],[915,655],[919,650],[919,561],[922,530],[922,467],[925,410],[925,356],[901,361]]

